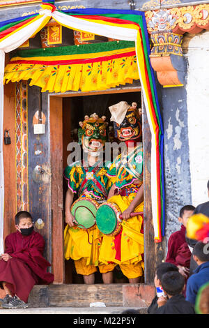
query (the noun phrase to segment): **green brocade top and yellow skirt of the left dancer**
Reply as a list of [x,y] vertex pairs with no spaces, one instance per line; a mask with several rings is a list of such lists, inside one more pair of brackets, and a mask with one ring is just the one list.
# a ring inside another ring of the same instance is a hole
[[[88,170],[91,171],[92,167],[89,167]],[[98,170],[94,173],[94,178],[100,181],[100,184],[108,191],[111,187],[111,181],[106,174],[107,167],[98,167]],[[95,186],[93,179],[86,181],[81,191],[80,186],[86,177],[86,171],[81,163],[75,163],[75,165],[66,167],[64,177],[68,180],[68,188],[74,193],[77,193],[79,198],[87,196],[93,198],[95,201],[104,198],[102,191]],[[70,258],[75,260],[76,268],[77,261],[82,260],[82,264],[79,265],[80,269],[78,273],[80,274],[86,274],[86,272],[88,272],[87,274],[91,274],[97,271],[95,267],[99,264],[99,248],[102,241],[102,232],[98,230],[96,225],[87,231],[76,226],[70,228],[69,225],[66,225],[64,230],[65,260],[69,260]],[[85,266],[89,266],[89,269],[84,268],[84,271],[81,271],[84,263]]]

